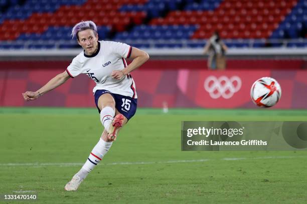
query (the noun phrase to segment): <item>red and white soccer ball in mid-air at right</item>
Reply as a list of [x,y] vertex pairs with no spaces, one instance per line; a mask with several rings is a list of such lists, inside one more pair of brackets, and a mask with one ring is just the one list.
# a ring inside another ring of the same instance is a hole
[[271,107],[275,105],[281,96],[279,83],[271,77],[262,77],[256,80],[251,89],[252,101],[260,107]]

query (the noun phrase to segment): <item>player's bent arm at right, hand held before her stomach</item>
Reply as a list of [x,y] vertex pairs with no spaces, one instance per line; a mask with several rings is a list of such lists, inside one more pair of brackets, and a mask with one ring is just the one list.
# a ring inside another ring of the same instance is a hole
[[133,71],[134,69],[138,68],[143,63],[145,63],[149,59],[149,55],[141,49],[132,47],[131,55],[129,58],[133,60],[127,67],[125,67],[124,69],[120,71],[119,70],[112,71],[111,76],[113,78],[118,79],[118,80],[121,79],[122,76],[130,73],[131,71]]

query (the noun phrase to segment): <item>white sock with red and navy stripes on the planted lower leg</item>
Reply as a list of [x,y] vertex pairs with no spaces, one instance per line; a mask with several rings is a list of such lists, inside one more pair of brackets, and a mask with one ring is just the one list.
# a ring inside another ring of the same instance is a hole
[[94,146],[93,150],[88,156],[86,162],[77,173],[81,179],[84,179],[87,174],[99,163],[99,161],[101,161],[102,157],[108,152],[111,145],[111,141],[108,142],[101,138],[99,139],[98,143]]

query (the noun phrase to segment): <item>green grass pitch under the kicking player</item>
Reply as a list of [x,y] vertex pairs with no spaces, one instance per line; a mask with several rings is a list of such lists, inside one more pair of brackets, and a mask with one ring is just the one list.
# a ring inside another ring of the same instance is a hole
[[[1,203],[307,203],[306,151],[181,151],[182,120],[307,120],[307,110],[139,108],[75,192],[102,132],[95,108],[0,108]],[[232,159],[225,159],[232,158]]]

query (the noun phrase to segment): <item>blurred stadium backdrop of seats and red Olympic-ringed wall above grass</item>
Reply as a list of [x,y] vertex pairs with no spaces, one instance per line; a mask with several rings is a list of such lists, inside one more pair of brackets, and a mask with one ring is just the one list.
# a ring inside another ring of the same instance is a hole
[[[64,71],[81,51],[72,26],[93,20],[100,40],[151,56],[132,73],[139,107],[254,108],[249,88],[262,76],[281,84],[274,108],[307,107],[307,0],[0,0],[0,16],[1,106],[92,107],[87,76],[31,103],[19,93]],[[214,30],[229,47],[226,71],[207,69]]]

